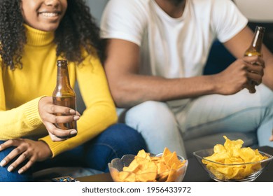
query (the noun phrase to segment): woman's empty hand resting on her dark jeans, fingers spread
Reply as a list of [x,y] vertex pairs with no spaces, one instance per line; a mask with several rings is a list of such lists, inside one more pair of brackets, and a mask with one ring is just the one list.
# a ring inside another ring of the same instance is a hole
[[52,156],[47,144],[43,141],[33,141],[30,139],[10,139],[0,145],[0,151],[12,146],[15,146],[15,149],[13,149],[13,151],[11,151],[6,158],[3,158],[0,162],[0,166],[4,167],[12,161],[13,158],[18,156],[15,161],[11,162],[8,167],[8,172],[13,171],[13,169],[18,167],[18,165],[27,160],[27,164],[21,167],[18,171],[19,174],[22,174],[34,165],[34,162],[43,161]]

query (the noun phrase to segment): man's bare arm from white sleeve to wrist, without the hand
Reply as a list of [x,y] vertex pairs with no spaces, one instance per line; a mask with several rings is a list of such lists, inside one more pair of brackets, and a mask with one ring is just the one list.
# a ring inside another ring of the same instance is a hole
[[214,92],[210,76],[167,79],[139,75],[139,46],[130,41],[107,41],[106,75],[117,106],[134,106],[148,100],[168,101]]

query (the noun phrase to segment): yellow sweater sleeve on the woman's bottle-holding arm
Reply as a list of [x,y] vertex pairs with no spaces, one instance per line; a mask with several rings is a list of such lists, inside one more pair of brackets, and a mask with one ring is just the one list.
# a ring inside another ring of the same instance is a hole
[[6,110],[2,69],[0,69],[0,140],[24,137],[42,124],[38,113],[38,102],[41,97],[15,109]]

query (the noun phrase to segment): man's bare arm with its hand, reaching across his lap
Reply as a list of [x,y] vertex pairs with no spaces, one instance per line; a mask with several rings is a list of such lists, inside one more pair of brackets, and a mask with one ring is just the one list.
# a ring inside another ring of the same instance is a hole
[[[148,100],[164,102],[205,94],[234,94],[246,86],[245,68],[252,66],[241,59],[215,75],[167,79],[139,75],[139,55],[139,46],[135,43],[120,39],[107,41],[104,66],[118,107],[130,107]],[[249,68],[253,69],[256,68]]]

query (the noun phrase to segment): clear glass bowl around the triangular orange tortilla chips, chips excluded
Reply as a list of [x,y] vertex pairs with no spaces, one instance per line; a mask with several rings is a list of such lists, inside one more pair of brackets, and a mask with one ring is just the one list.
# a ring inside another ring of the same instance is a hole
[[[115,182],[122,182],[122,180],[120,180],[120,177],[119,177],[119,173],[120,172],[123,172],[123,167],[128,167],[130,165],[130,163],[134,160],[134,157],[136,155],[124,155],[123,158],[116,158],[116,159],[113,159],[111,162],[109,162],[108,166],[109,166],[109,171],[110,171],[110,174],[111,174],[111,177],[113,179],[113,181]],[[151,157],[161,157],[162,156],[162,153],[158,154],[158,155],[153,155],[151,154]],[[177,158],[179,158],[179,160],[181,162],[183,162],[185,159],[181,156],[177,156]],[[183,181],[183,178],[186,174],[186,170],[187,170],[187,167],[188,167],[188,160],[185,160],[185,164],[180,167],[179,169],[169,169],[165,172],[162,172],[161,174],[157,174],[156,172],[144,172],[142,174],[139,174],[139,175],[142,175],[142,176],[153,176],[153,175],[158,175],[158,176],[162,176],[162,178],[156,178],[156,181],[160,181],[160,182],[165,182],[165,181],[172,181],[172,182],[181,182]],[[169,174],[169,172],[172,172],[172,178],[165,178],[164,176],[167,176]],[[128,174],[132,174],[132,172],[126,172]],[[136,176],[138,176],[137,174],[135,174]]]

